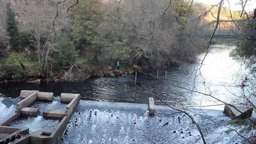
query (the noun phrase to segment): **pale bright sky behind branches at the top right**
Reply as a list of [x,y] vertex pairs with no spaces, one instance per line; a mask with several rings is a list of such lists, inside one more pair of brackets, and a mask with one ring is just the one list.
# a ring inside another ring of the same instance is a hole
[[[220,2],[220,0],[195,0],[195,1],[196,2],[202,2],[202,3],[205,3],[207,5],[215,5],[215,4],[218,4]],[[242,10],[241,5],[237,4],[239,1],[240,0],[229,0],[230,9],[231,10]],[[227,0],[224,0],[223,6],[229,7],[229,4],[228,4]],[[244,10],[246,12],[249,12],[249,11],[253,11],[254,8],[256,8],[256,0],[248,0]]]

